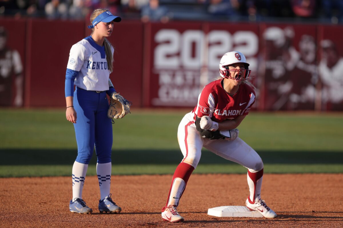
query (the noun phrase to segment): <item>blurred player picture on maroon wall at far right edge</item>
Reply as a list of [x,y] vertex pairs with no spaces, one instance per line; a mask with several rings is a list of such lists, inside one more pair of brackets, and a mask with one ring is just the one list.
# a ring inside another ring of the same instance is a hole
[[320,109],[323,111],[343,110],[343,45],[335,27],[322,27],[323,39],[319,40],[319,88]]

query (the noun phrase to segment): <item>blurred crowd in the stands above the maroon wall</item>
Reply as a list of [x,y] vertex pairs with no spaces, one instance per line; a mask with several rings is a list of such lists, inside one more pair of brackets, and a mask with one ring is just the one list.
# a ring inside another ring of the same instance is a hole
[[192,19],[343,23],[343,0],[0,0],[0,16],[83,20],[96,8],[143,22]]

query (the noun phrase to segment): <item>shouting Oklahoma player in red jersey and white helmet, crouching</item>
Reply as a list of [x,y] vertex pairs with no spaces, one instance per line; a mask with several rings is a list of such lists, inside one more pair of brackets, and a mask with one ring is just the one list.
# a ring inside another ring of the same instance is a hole
[[184,220],[176,207],[199,163],[202,147],[247,167],[250,190],[247,207],[266,218],[276,217],[261,200],[263,162],[256,151],[238,137],[236,129],[255,102],[253,86],[246,81],[251,72],[248,66],[242,53],[225,53],[219,64],[221,79],[203,88],[197,106],[181,120],[177,138],[184,159],[173,175],[167,203],[162,209],[163,220],[172,223]]

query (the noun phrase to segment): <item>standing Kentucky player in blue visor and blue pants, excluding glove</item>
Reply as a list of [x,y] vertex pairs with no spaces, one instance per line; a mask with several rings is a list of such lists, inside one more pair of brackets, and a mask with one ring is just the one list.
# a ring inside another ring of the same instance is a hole
[[66,117],[74,123],[78,145],[78,156],[72,169],[73,198],[69,210],[81,214],[92,212],[82,199],[82,189],[95,145],[99,211],[119,213],[121,208],[112,201],[110,194],[113,138],[111,119],[107,117],[106,93],[111,95],[116,90],[109,79],[114,48],[106,37],[111,36],[114,22],[120,22],[121,18],[105,9],[97,9],[90,19],[88,28],[93,32],[71,47],[66,72]]

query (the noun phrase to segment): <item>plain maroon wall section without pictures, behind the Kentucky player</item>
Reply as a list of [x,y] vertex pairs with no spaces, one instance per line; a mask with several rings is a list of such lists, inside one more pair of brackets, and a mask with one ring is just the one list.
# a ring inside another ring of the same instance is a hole
[[[116,24],[116,31],[109,39],[115,47],[110,78],[118,92],[141,106],[143,42],[133,36],[133,31],[142,35],[143,25]],[[69,51],[74,43],[88,35],[90,30],[85,30],[84,22],[27,22],[25,107],[65,106],[64,79]]]

